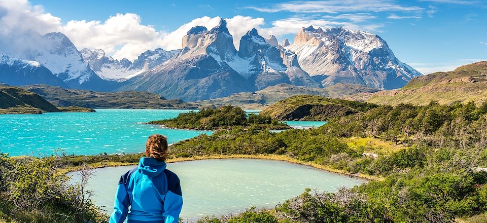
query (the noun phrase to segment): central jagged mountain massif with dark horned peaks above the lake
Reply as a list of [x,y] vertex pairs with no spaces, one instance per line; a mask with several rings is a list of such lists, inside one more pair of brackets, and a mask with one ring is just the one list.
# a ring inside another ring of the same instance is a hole
[[[283,53],[283,48],[266,43],[256,29],[242,36],[237,51],[223,19],[211,30],[191,28],[183,37],[182,47],[166,62],[124,82],[120,90],[151,91],[192,101],[282,83],[321,86],[292,62],[292,52]],[[282,54],[286,55],[286,64]]]

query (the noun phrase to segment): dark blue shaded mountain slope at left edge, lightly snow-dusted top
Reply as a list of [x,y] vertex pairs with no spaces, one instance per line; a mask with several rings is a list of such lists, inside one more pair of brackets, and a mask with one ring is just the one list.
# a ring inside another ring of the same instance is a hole
[[46,84],[68,86],[37,61],[11,58],[0,53],[0,82],[9,85]]

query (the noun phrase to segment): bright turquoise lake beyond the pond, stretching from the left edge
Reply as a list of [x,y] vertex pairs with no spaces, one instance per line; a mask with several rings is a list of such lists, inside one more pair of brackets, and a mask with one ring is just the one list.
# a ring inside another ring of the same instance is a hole
[[[144,124],[170,119],[191,110],[96,109],[96,113],[46,113],[0,115],[0,152],[10,156],[66,154],[139,153],[147,137],[163,134],[169,143],[211,134],[212,131],[167,129]],[[258,113],[260,110],[246,110]],[[294,128],[318,127],[326,122],[287,122]]]

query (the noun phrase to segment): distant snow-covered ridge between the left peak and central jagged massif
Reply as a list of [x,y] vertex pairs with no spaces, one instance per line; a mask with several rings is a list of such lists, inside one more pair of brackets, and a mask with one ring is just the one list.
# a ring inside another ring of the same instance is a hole
[[90,64],[90,67],[96,74],[103,79],[123,81],[130,76],[133,71],[128,70],[132,62],[128,59],[117,60],[105,54],[101,49],[90,50],[82,49],[81,55],[83,60]]

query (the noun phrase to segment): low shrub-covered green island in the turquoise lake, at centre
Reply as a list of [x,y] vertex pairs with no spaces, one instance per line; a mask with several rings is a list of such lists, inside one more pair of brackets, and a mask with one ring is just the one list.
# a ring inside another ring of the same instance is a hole
[[178,117],[166,120],[151,121],[147,124],[161,125],[166,128],[218,130],[234,127],[259,129],[290,129],[286,123],[274,120],[268,115],[247,115],[236,106],[206,107],[199,112],[179,114]]

